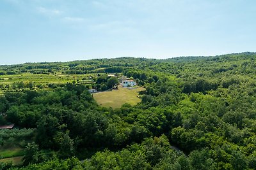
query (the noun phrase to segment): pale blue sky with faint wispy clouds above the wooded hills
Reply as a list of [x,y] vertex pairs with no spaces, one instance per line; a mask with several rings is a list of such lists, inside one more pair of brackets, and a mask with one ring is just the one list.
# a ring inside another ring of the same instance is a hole
[[0,0],[0,64],[256,52],[255,0]]

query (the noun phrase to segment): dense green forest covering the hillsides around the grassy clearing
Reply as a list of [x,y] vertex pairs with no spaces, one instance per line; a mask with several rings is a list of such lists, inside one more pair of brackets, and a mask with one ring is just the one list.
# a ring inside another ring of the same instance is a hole
[[[136,80],[141,102],[97,104],[88,89],[111,89],[108,74]],[[256,169],[255,75],[250,52],[0,66],[0,125],[15,124],[0,148],[23,152],[0,169]]]

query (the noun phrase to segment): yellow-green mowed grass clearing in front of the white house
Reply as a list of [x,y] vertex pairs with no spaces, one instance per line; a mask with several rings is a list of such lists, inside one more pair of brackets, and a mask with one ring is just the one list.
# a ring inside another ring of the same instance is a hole
[[131,104],[132,106],[139,103],[141,99],[138,97],[138,92],[143,90],[145,90],[143,87],[132,90],[119,87],[118,90],[93,94],[93,97],[100,106],[120,108],[125,103]]

